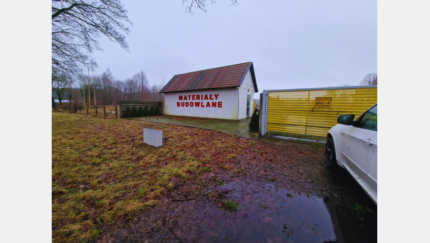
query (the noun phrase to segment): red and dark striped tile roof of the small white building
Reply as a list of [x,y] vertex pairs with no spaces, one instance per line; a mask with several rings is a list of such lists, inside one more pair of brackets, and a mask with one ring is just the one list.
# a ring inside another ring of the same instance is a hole
[[161,89],[160,93],[239,87],[248,70],[251,72],[255,92],[258,92],[253,63],[245,62],[230,66],[176,74],[163,89]]

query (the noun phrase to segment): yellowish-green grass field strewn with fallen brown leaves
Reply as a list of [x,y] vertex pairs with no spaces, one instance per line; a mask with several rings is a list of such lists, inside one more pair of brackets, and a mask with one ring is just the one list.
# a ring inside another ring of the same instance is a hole
[[[163,130],[163,146],[143,143]],[[104,223],[157,205],[162,192],[225,166],[253,145],[218,131],[84,114],[52,113],[53,242],[86,242]]]

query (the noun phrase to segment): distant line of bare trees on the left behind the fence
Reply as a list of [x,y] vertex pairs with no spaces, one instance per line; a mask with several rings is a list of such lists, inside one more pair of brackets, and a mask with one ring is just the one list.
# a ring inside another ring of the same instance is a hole
[[[94,84],[93,84],[94,78]],[[135,73],[125,80],[116,79],[108,68],[101,75],[89,76],[90,86],[88,90],[88,76],[76,77],[53,68],[52,71],[52,100],[58,98],[60,105],[62,100],[78,103],[84,100],[94,105],[94,90],[97,105],[118,105],[119,101],[164,101],[164,96],[158,92],[164,84],[149,86],[148,78],[143,70]]]

